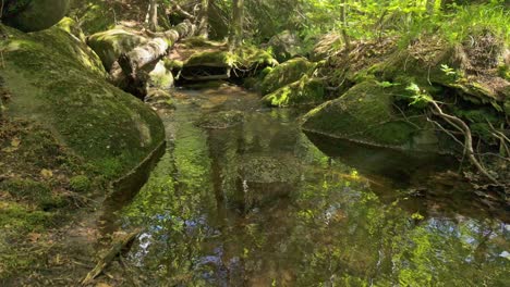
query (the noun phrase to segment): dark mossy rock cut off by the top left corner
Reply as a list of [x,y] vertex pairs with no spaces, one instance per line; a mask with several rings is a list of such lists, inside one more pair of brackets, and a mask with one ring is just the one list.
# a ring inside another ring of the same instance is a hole
[[69,4],[70,0],[8,0],[2,20],[23,32],[42,30],[57,24]]

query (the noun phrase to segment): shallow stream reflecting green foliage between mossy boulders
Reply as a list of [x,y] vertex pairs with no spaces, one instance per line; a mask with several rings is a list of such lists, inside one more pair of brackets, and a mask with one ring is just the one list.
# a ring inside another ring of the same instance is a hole
[[144,228],[139,285],[508,286],[508,212],[451,159],[305,134],[233,86],[178,95],[148,183],[104,211],[105,234]]

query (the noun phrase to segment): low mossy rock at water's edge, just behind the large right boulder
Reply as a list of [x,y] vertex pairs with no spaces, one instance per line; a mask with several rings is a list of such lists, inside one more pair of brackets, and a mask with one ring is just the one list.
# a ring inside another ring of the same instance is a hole
[[266,95],[263,101],[268,105],[288,107],[296,104],[312,104],[325,101],[324,82],[304,75],[300,80],[283,86]]

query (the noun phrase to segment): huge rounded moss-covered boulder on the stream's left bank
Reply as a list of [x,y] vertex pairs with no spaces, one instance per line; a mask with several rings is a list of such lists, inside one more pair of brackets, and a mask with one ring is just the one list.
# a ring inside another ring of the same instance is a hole
[[107,178],[125,174],[163,141],[157,114],[111,86],[86,45],[58,27],[4,29],[0,77],[11,95],[5,116],[47,127]]

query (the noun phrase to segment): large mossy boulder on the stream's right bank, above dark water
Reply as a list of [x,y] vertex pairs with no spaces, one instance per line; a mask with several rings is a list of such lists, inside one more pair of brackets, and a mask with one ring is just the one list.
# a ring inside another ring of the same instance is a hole
[[308,112],[303,128],[374,146],[436,150],[438,138],[426,120],[403,117],[392,95],[376,82],[361,83]]

